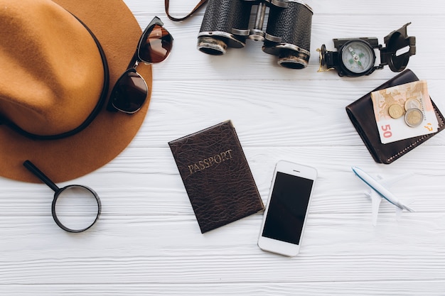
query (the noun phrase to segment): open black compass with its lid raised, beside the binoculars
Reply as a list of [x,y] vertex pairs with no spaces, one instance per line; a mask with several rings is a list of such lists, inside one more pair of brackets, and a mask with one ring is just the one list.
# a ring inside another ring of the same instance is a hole
[[[326,50],[326,45],[321,45],[317,49],[320,53],[318,72],[337,70],[340,76],[358,77],[370,75],[385,65],[393,72],[401,72],[407,66],[409,57],[416,53],[416,38],[407,35],[408,25],[387,35],[384,38],[385,48],[379,45],[375,37],[333,39],[337,51]],[[380,63],[376,65],[378,51]]]

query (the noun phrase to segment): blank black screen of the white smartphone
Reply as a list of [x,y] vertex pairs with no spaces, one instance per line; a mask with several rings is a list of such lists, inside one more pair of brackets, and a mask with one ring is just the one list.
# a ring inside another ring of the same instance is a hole
[[262,236],[299,245],[313,180],[277,172]]

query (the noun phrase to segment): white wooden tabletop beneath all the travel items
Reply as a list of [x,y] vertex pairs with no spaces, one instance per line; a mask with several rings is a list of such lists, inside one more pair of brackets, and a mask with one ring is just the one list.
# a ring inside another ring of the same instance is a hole
[[[332,38],[375,36],[382,44],[411,21],[417,55],[408,67],[445,111],[444,2],[308,0],[304,70],[279,67],[253,41],[224,56],[200,53],[204,9],[175,23],[162,0],[125,2],[141,28],[159,16],[175,38],[171,56],[153,67],[144,125],[111,163],[75,180],[94,188],[103,206],[82,234],[55,225],[48,187],[0,179],[0,295],[445,295],[445,133],[391,165],[375,163],[345,106],[396,73],[320,73],[316,52],[323,43],[333,49]],[[183,16],[196,2],[172,0],[171,13]],[[299,256],[257,247],[261,213],[200,233],[167,143],[227,119],[264,202],[277,160],[318,169]],[[352,165],[384,177],[414,172],[392,192],[417,212],[397,221],[382,202],[372,226]]]

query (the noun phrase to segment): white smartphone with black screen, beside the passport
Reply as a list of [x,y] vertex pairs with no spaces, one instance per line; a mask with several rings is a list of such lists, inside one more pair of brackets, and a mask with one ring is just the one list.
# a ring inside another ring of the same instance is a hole
[[280,160],[275,166],[269,199],[259,232],[264,251],[296,256],[309,212],[317,170]]

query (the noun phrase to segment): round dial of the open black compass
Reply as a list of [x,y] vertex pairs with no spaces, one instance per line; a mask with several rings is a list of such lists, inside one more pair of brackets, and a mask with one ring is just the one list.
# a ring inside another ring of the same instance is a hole
[[341,62],[345,70],[354,74],[364,74],[374,66],[375,53],[363,40],[351,40],[341,49]]

